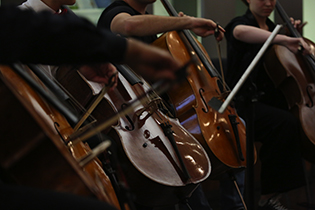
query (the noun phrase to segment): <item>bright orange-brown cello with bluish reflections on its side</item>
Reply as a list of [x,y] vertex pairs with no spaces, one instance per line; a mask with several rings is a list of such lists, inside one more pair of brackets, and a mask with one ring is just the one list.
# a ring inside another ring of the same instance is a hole
[[[178,16],[172,5],[162,0],[171,16]],[[213,96],[224,98],[224,86],[219,73],[212,65],[203,46],[188,30],[163,34],[153,45],[165,49],[182,63],[196,57],[197,63],[189,66],[190,74],[177,89],[167,92],[175,117],[204,146],[213,166],[210,178],[230,169],[246,166],[245,126],[231,106],[220,114],[208,105]]]

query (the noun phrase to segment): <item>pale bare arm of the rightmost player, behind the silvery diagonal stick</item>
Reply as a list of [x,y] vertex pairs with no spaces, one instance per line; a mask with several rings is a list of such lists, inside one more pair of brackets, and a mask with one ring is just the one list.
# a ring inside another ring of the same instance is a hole
[[[264,43],[271,32],[247,25],[238,25],[233,30],[233,36],[242,42],[259,44]],[[286,35],[278,34],[273,40],[273,44],[279,44],[287,47],[293,53],[297,53],[300,45],[304,47],[303,54],[310,53],[310,47],[302,38],[292,38]]]

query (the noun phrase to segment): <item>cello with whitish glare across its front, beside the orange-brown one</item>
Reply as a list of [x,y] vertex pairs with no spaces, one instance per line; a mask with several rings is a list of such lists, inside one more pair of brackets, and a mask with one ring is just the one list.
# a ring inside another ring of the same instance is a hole
[[[157,95],[146,95],[150,87],[144,80],[127,66],[116,67],[125,74],[119,74],[117,88],[104,96],[92,112],[93,117],[102,123],[139,97],[147,98],[105,130],[117,145],[117,150],[112,151],[119,161],[117,177],[120,181],[126,180],[125,185],[134,194],[136,203],[153,207],[176,205],[209,176],[208,156],[177,120],[169,119],[159,110],[161,99]],[[89,106],[93,91],[98,93],[101,87],[80,77],[73,69],[59,70],[56,75],[71,95],[81,99],[83,106]],[[90,95],[82,97],[78,87],[88,87]]]

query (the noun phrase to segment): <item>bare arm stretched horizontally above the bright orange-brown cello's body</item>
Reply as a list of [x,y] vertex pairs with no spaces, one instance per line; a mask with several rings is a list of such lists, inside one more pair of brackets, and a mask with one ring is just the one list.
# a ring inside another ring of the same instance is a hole
[[[111,30],[125,36],[147,36],[167,31],[190,29],[198,36],[206,37],[214,34],[216,23],[210,19],[190,16],[172,17],[158,15],[134,15],[120,13],[114,17]],[[220,28],[220,40],[224,29]]]

